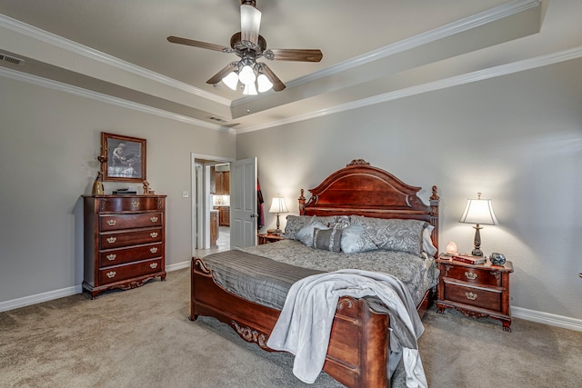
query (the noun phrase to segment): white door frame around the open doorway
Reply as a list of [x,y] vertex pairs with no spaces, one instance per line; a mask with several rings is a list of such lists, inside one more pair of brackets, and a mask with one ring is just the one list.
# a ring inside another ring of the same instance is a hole
[[[192,241],[192,255],[196,255],[196,247],[199,243],[202,246],[197,249],[210,248],[210,176],[206,173],[208,165],[206,163],[198,163],[196,159],[203,159],[207,162],[216,162],[216,164],[226,164],[234,162],[236,159],[226,156],[216,156],[209,154],[190,154],[190,192],[191,195],[191,227],[192,233],[190,239]],[[202,166],[199,168],[197,166]],[[199,173],[202,170],[203,173]],[[198,197],[202,197],[198,201]],[[206,211],[208,210],[208,211]],[[203,217],[198,217],[198,214],[203,214]]]

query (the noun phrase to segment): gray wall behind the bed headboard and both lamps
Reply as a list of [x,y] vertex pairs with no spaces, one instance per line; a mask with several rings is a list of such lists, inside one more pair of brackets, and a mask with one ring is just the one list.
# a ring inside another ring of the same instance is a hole
[[578,59],[239,134],[237,157],[257,156],[266,203],[281,193],[294,214],[301,188],[356,158],[423,187],[425,201],[437,184],[443,250],[450,240],[472,249],[475,230],[458,219],[482,192],[500,223],[481,231],[482,249],[513,262],[512,305],[582,319],[581,68]]

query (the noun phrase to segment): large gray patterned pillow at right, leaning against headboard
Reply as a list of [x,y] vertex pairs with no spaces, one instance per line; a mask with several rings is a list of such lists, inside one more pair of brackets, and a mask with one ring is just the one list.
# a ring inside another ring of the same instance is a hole
[[361,224],[378,249],[417,256],[422,254],[423,231],[427,225],[425,221],[353,215],[352,224]]

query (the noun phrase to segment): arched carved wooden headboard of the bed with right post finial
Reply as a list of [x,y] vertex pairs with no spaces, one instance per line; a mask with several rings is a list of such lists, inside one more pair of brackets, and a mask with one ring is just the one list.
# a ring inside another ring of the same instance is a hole
[[423,220],[435,226],[432,240],[438,248],[437,186],[432,187],[430,205],[416,195],[420,190],[421,187],[405,184],[393,174],[356,159],[310,189],[308,201],[302,189],[299,214]]

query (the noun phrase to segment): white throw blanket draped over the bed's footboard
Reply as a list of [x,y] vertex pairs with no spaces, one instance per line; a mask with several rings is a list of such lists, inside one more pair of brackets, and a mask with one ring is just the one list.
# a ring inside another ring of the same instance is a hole
[[[267,341],[274,350],[295,354],[293,373],[305,383],[314,383],[326,362],[331,325],[341,296],[362,298],[376,295],[403,326],[394,343],[402,346],[406,386],[427,387],[416,339],[424,326],[406,286],[396,277],[356,269],[315,274],[289,289],[285,306]],[[394,343],[391,340],[393,351]]]

